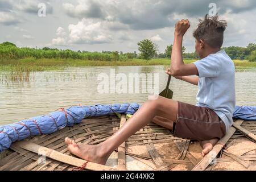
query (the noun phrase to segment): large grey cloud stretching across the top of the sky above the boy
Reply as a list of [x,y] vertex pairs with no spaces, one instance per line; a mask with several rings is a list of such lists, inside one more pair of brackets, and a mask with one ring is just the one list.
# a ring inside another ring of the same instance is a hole
[[[185,14],[186,18],[203,16],[209,11],[212,0],[79,0],[77,5],[64,3],[65,13],[73,18],[97,18],[120,22],[134,30],[156,30],[172,27],[174,14]],[[218,12],[223,14],[228,10],[242,12],[255,8],[255,0],[216,1]]]

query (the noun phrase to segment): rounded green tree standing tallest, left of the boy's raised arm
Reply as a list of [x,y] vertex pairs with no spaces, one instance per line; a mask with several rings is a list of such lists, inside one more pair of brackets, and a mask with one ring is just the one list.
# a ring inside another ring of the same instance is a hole
[[150,60],[152,57],[156,55],[156,47],[155,44],[149,40],[144,39],[138,43],[139,52],[142,59]]

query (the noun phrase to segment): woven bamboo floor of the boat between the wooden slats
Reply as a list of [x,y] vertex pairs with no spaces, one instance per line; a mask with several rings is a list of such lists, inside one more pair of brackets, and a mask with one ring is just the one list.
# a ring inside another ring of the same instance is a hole
[[[64,143],[65,137],[77,143],[97,144],[111,137],[119,129],[120,119],[114,115],[84,119],[81,124],[65,127],[56,133],[31,137],[30,142],[73,156]],[[244,129],[256,134],[255,121],[243,121]],[[232,135],[214,163],[206,170],[256,170],[256,143],[240,131]],[[228,151],[228,152],[227,152]],[[191,170],[200,162],[199,142],[175,138],[171,131],[149,123],[125,143],[127,170]],[[1,153],[0,170],[65,171],[74,166],[24,150],[15,143]],[[242,162],[240,161],[242,160]],[[106,166],[118,169],[118,152],[114,151]]]

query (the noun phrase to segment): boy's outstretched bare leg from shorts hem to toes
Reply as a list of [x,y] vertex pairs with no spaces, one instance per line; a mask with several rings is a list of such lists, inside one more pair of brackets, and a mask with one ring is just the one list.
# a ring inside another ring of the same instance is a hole
[[141,108],[112,137],[97,145],[76,144],[66,138],[69,151],[82,159],[105,164],[110,154],[131,135],[147,125],[156,115],[170,121],[177,119],[178,102],[164,97],[146,101]]

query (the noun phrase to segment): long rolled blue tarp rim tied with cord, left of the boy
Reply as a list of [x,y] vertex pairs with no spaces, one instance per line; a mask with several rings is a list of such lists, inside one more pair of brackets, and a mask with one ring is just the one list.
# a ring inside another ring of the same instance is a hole
[[93,106],[72,106],[39,117],[25,119],[10,125],[0,126],[0,151],[6,150],[17,140],[33,135],[51,134],[66,126],[81,123],[82,119],[114,113],[134,114],[139,104],[112,104]]

